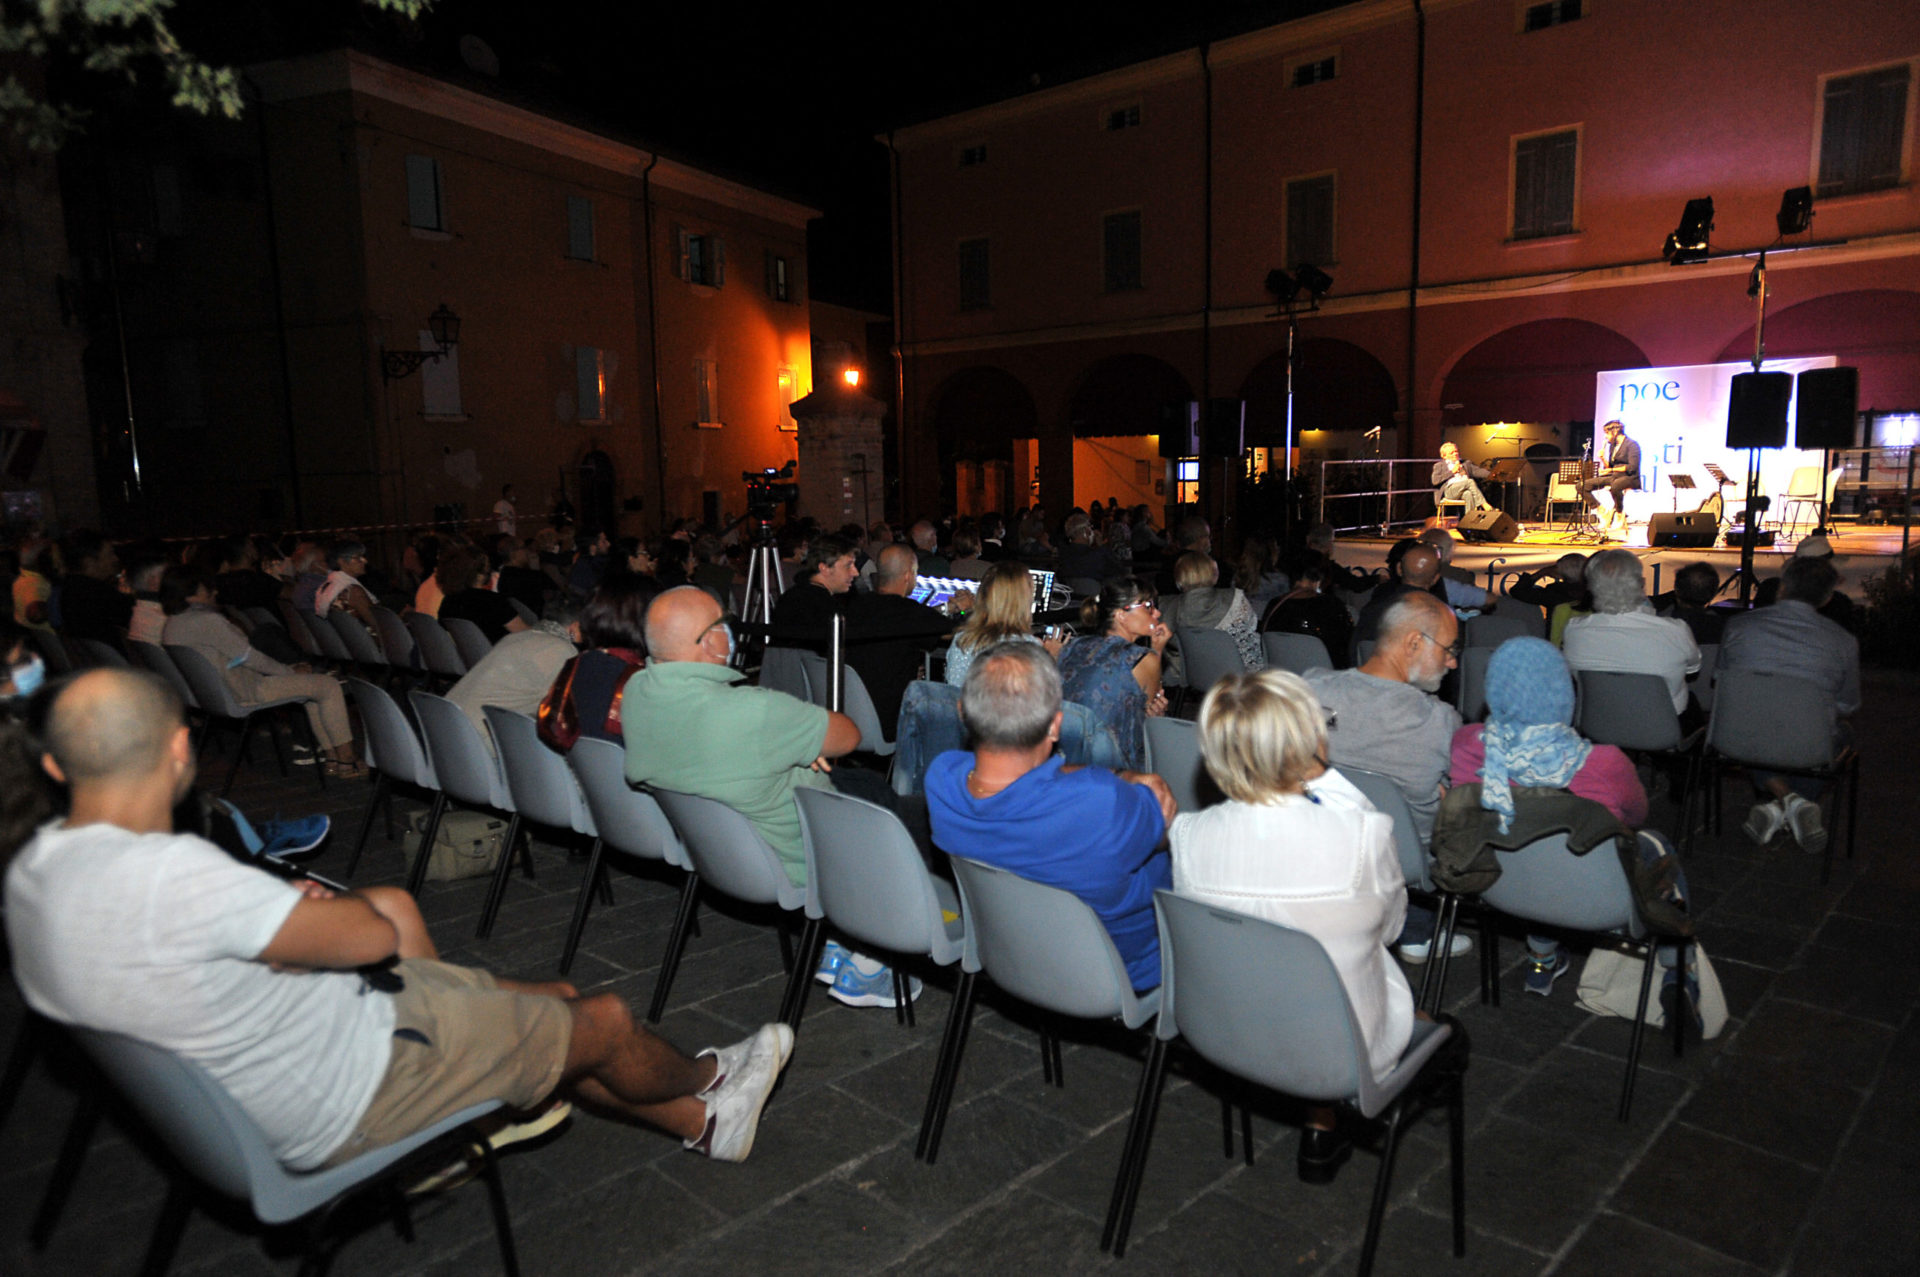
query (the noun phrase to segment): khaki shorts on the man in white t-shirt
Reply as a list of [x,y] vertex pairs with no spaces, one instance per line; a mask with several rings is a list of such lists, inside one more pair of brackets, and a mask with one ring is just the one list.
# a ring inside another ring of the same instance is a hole
[[561,1085],[574,1016],[566,1002],[509,993],[468,966],[407,958],[394,995],[394,1052],[340,1166],[484,1100],[532,1108]]

